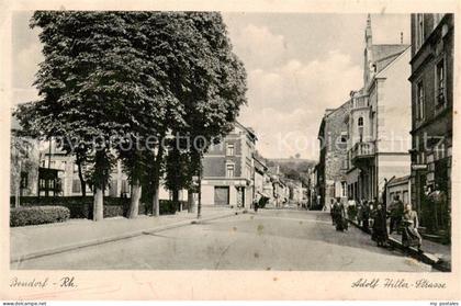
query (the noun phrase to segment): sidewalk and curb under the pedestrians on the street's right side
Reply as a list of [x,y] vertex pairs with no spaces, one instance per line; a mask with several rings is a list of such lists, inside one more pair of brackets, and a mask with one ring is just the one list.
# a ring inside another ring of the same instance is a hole
[[[360,228],[361,230],[363,230],[363,228],[360,227],[357,224],[357,222],[349,219],[349,223]],[[366,231],[366,230],[363,231],[367,234],[371,234],[371,231]],[[420,260],[427,264],[432,265],[437,270],[440,270],[443,272],[451,271],[451,246],[446,246],[446,245],[437,243],[427,239],[423,239],[423,243],[421,243],[423,252],[419,252],[416,248],[413,248],[413,247],[406,249],[402,245],[402,235],[398,235],[398,234],[390,235],[389,243],[392,247],[404,250],[408,256],[416,258],[417,260]]]

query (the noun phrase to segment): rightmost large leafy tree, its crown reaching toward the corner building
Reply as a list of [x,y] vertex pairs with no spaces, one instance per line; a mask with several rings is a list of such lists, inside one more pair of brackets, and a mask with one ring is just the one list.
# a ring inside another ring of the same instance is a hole
[[[185,115],[180,125],[172,126],[172,131],[179,137],[188,137],[191,146],[188,147],[188,157],[171,159],[176,167],[169,167],[171,170],[181,169],[187,178],[180,180],[175,174],[167,175],[167,183],[191,192],[192,175],[201,173],[202,154],[233,128],[240,106],[246,103],[247,87],[244,65],[232,52],[221,14],[191,12],[183,16],[191,41],[181,49],[183,61],[170,77],[171,92],[183,105]],[[183,159],[188,160],[185,165]],[[175,194],[177,190],[173,190]]]

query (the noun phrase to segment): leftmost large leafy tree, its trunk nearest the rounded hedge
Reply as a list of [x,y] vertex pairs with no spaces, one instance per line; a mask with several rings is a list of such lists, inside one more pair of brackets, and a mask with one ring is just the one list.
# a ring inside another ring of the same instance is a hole
[[139,54],[133,23],[123,12],[36,12],[31,21],[42,29],[45,60],[35,81],[42,100],[25,113],[37,115],[35,127],[47,137],[75,135],[92,145],[93,219],[102,218],[112,137],[137,132],[143,123],[136,114],[158,88],[154,73],[143,73],[151,67]]

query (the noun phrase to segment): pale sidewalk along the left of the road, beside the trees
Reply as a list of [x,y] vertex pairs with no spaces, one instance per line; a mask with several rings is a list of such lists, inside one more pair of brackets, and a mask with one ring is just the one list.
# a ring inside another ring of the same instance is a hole
[[[236,208],[202,205],[201,222],[229,217],[241,212]],[[196,212],[184,211],[159,217],[139,215],[135,219],[115,217],[100,222],[70,219],[65,223],[11,227],[10,262],[187,226],[194,220]]]

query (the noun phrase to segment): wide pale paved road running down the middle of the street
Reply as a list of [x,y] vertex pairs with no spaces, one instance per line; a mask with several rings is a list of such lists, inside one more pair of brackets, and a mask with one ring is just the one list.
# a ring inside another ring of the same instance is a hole
[[356,228],[338,233],[319,212],[262,209],[14,263],[12,269],[431,271],[375,247]]

